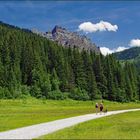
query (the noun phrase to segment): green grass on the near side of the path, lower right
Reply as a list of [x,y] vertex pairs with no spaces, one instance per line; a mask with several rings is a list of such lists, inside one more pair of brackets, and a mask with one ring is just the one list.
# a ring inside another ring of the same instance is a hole
[[40,139],[140,139],[140,111],[112,115],[42,136]]

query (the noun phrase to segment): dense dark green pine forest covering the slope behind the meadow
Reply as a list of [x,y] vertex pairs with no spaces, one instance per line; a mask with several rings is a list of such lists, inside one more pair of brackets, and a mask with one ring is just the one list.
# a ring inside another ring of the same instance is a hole
[[140,76],[113,55],[66,48],[0,23],[0,98],[140,100]]

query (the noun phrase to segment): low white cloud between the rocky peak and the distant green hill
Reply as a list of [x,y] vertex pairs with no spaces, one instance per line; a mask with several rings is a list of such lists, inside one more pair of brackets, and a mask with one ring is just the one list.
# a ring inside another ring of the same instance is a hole
[[111,54],[111,53],[115,53],[115,52],[120,52],[120,51],[123,51],[123,50],[126,50],[128,48],[124,47],[124,46],[119,46],[118,48],[116,49],[109,49],[107,47],[101,47],[100,50],[101,50],[101,53],[103,55],[107,55],[107,54]]

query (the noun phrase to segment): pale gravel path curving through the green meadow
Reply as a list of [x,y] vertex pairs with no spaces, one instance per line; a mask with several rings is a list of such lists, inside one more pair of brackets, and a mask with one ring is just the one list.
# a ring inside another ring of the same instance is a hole
[[138,110],[140,109],[110,111],[102,115],[100,114],[96,115],[94,113],[94,114],[87,114],[87,115],[81,115],[77,117],[56,120],[47,123],[36,124],[32,126],[1,132],[0,139],[33,139],[88,120],[101,118],[113,114],[119,114],[119,113],[124,113],[129,111],[138,111]]

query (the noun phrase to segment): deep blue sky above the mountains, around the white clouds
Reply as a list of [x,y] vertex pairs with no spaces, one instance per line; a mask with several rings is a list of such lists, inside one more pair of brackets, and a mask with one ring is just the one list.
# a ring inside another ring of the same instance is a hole
[[109,49],[129,47],[132,39],[140,38],[139,1],[0,1],[0,20],[44,32],[52,30],[55,25],[77,31],[81,23],[96,24],[103,20],[117,25],[118,30],[86,35],[98,46]]

